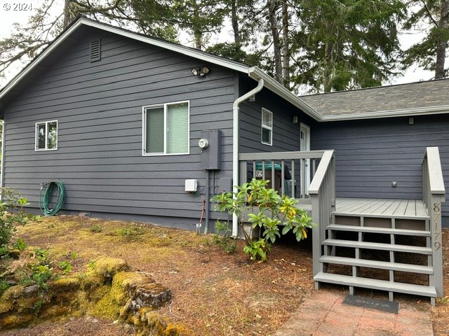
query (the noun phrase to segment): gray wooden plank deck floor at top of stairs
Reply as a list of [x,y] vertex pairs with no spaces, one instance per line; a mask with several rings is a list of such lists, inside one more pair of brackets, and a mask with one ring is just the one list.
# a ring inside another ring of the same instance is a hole
[[428,219],[422,200],[381,198],[343,198],[335,200],[335,214],[343,216],[369,216]]

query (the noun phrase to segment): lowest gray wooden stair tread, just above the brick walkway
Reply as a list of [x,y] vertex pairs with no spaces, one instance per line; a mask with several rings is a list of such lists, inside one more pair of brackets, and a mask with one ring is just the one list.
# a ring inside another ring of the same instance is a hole
[[363,288],[388,290],[397,293],[436,297],[436,290],[434,286],[422,286],[410,283],[390,282],[386,280],[359,278],[356,276],[347,276],[323,272],[319,272],[318,274],[316,274],[314,276],[314,281],[335,283],[346,286],[359,286]]

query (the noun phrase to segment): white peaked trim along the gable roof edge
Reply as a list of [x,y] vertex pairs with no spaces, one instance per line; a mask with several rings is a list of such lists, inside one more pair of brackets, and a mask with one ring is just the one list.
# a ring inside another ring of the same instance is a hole
[[250,66],[245,65],[245,64],[241,64],[238,62],[234,62],[230,59],[224,59],[222,57],[218,57],[215,55],[211,55],[211,54],[206,54],[204,52],[200,52],[197,50],[194,50],[192,48],[187,48],[184,47],[182,45],[176,45],[175,43],[170,43],[170,42],[166,42],[166,41],[161,41],[155,38],[151,38],[151,37],[146,37],[146,36],[142,36],[140,34],[134,33],[132,31],[126,31],[117,27],[113,27],[110,25],[105,25],[102,24],[100,22],[95,22],[93,20],[88,20],[85,18],[80,18],[79,20],[77,20],[76,22],[74,22],[74,25],[72,25],[71,27],[69,27],[61,36],[58,37],[58,39],[56,39],[55,41],[53,41],[53,43],[51,43],[51,45],[48,46],[48,48],[46,48],[46,50],[44,50],[41,55],[39,55],[39,57],[37,57],[36,59],[34,59],[32,61],[32,63],[29,64],[29,66],[27,66],[21,73],[18,74],[17,77],[15,77],[13,80],[11,80],[11,82],[8,83],[8,85],[6,85],[6,87],[4,87],[4,90],[1,90],[0,92],[0,99],[2,99],[9,91],[11,91],[11,89],[13,89],[13,87],[20,82],[20,80],[22,80],[22,78],[24,78],[25,76],[27,76],[27,74],[32,71],[32,69],[34,69],[36,66],[39,65],[39,63],[46,58],[46,56],[48,54],[50,54],[53,50],[55,50],[55,48],[58,47],[58,45],[60,45],[63,41],[65,41],[65,39],[70,36],[70,34],[73,33],[73,31],[75,31],[77,28],[79,28],[81,25],[86,25],[89,27],[94,27],[97,29],[101,29],[104,31],[109,31],[111,33],[114,34],[118,34],[121,36],[125,36],[128,38],[132,38],[133,40],[136,41],[141,41],[150,45],[156,45],[158,47],[167,49],[167,50],[172,50],[175,52],[179,52],[182,55],[187,55],[190,57],[194,57],[196,59],[201,59],[204,62],[209,62],[212,64],[217,64],[219,66],[224,66],[227,69],[232,69],[235,71],[239,71],[242,73],[248,73],[248,69],[250,68]]

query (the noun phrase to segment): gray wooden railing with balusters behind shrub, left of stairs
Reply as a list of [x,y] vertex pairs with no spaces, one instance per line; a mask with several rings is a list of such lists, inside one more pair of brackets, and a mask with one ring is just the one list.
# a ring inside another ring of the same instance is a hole
[[[278,183],[280,193],[286,193],[285,173],[286,169],[289,169],[291,190],[288,190],[286,194],[296,198],[300,207],[311,204],[311,216],[314,223],[318,225],[317,228],[314,228],[312,238],[314,275],[321,272],[319,269],[321,267],[319,262],[321,241],[326,239],[326,228],[331,223],[332,212],[335,210],[334,151],[244,153],[239,154],[239,162],[240,184],[248,181],[248,177],[258,177],[270,181],[276,181],[277,177],[280,181]],[[276,169],[278,176],[276,176]],[[297,172],[296,169],[299,169],[300,172]],[[256,172],[260,176],[255,176]],[[266,174],[267,172],[269,173]],[[308,188],[307,174],[310,174],[311,177]],[[297,176],[300,176],[300,190],[296,190],[297,186],[295,186]],[[272,186],[276,186],[276,183],[273,183]]]

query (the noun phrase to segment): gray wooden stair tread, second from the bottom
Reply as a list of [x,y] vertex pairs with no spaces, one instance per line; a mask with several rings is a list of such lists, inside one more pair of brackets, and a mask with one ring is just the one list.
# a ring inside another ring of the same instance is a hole
[[434,269],[431,266],[411,265],[401,262],[378,261],[368,259],[356,259],[347,257],[335,257],[333,255],[323,255],[320,262],[329,262],[332,264],[371,267],[380,269],[393,269],[402,272],[413,272],[422,274],[433,274]]

